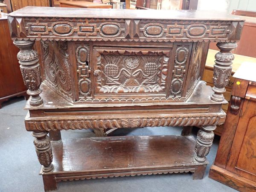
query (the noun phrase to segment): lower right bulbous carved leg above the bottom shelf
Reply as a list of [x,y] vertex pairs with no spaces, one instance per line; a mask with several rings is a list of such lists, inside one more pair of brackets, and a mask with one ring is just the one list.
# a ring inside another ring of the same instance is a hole
[[195,160],[202,163],[206,160],[207,154],[209,154],[214,138],[213,130],[216,125],[202,126],[198,131],[197,140],[195,143]]

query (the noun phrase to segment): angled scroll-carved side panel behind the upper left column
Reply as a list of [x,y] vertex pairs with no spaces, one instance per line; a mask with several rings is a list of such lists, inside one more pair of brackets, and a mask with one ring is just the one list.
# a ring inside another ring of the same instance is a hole
[[41,41],[46,83],[67,99],[73,98],[71,64],[65,41]]

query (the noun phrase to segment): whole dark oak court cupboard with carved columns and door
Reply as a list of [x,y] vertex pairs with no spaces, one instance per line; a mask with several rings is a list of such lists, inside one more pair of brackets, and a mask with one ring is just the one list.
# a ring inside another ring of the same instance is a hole
[[[26,130],[35,137],[46,191],[85,178],[173,172],[203,178],[212,131],[225,120],[224,87],[243,20],[199,11],[43,7],[8,19],[31,96]],[[213,88],[201,81],[211,41],[220,48]],[[196,140],[193,125],[201,126]],[[52,142],[47,136],[148,126],[184,128],[180,136]]]

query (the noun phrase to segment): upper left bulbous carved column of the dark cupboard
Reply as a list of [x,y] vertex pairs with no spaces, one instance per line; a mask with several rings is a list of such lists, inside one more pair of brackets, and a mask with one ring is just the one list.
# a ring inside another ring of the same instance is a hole
[[23,76],[24,84],[28,87],[27,94],[32,96],[29,100],[31,106],[43,104],[43,99],[39,96],[42,90],[41,72],[38,64],[38,54],[32,49],[35,41],[14,41],[13,44],[20,49],[17,59],[20,64],[20,71]]

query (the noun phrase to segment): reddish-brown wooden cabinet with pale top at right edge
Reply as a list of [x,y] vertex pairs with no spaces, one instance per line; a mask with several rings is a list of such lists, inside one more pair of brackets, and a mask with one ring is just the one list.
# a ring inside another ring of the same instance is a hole
[[223,134],[209,173],[212,179],[242,192],[256,191],[256,66],[253,65],[243,64],[237,71],[242,73],[234,75]]

